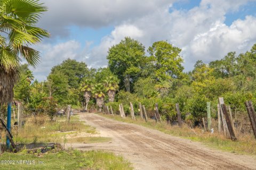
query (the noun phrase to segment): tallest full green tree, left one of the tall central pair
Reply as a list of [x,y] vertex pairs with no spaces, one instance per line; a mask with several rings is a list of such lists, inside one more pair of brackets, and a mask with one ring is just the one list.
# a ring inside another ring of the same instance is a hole
[[121,80],[120,87],[131,90],[130,84],[138,78],[144,58],[145,47],[130,37],[125,37],[119,44],[109,48],[108,66]]

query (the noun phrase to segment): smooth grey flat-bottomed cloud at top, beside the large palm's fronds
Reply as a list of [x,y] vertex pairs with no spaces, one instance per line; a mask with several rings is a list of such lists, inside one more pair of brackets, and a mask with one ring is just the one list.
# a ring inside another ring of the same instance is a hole
[[68,25],[100,28],[134,20],[168,7],[174,0],[41,0],[49,11],[39,25],[53,36],[68,36]]

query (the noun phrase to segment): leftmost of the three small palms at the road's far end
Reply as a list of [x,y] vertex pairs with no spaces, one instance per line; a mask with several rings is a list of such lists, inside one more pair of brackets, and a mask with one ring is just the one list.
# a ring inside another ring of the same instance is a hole
[[88,104],[89,104],[91,96],[92,96],[92,89],[93,89],[93,83],[89,79],[85,79],[81,83],[80,88],[79,88],[79,90],[84,93],[84,99],[85,99],[85,103],[86,103],[86,106],[85,106],[86,112],[87,112],[87,107],[88,107]]

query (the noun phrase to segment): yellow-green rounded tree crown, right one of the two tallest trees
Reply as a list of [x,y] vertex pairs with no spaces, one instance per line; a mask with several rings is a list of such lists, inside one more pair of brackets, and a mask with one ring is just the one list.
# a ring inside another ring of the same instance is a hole
[[151,64],[153,64],[155,75],[162,80],[177,78],[183,71],[181,49],[174,47],[167,41],[157,41],[148,48]]

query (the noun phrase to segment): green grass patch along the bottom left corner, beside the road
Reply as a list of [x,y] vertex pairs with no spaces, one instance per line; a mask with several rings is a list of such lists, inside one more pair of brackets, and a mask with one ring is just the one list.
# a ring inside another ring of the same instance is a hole
[[[14,160],[14,165],[1,164],[0,169],[12,170],[43,170],[43,169],[133,169],[131,163],[121,156],[116,156],[110,152],[78,150],[59,151],[56,153],[44,154],[38,157],[34,154],[12,154],[5,152],[1,155],[1,160]],[[34,160],[35,165],[18,165],[19,160]],[[44,162],[44,165],[38,164]]]

